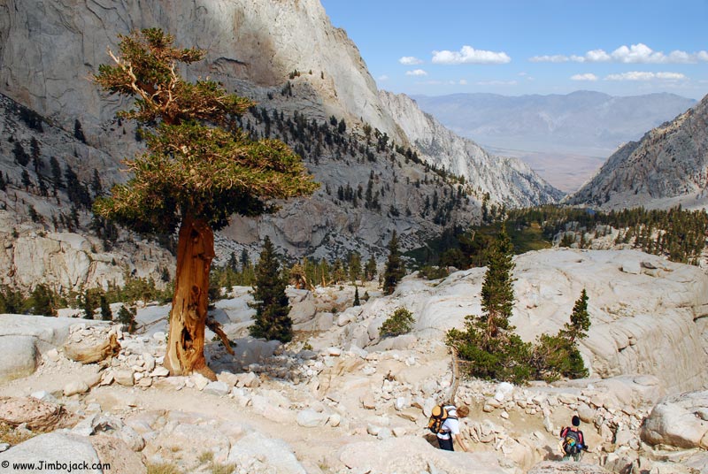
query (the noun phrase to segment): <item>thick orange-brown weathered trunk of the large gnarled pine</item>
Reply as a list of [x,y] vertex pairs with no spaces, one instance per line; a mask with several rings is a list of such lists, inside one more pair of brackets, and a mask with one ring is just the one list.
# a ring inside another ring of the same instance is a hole
[[201,373],[216,380],[204,359],[204,326],[209,303],[209,271],[214,234],[204,220],[182,218],[177,244],[177,274],[170,311],[165,368],[170,375]]

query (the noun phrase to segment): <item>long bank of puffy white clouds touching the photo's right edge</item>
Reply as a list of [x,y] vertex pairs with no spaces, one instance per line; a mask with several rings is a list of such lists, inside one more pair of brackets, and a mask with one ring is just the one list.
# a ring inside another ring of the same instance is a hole
[[605,50],[590,50],[582,56],[545,55],[530,57],[528,60],[532,63],[566,63],[573,61],[576,63],[689,64],[700,61],[708,62],[708,51],[689,53],[675,50],[669,54],[664,54],[663,51],[652,50],[649,46],[640,42],[630,46],[620,46],[620,48],[613,50],[611,53]]

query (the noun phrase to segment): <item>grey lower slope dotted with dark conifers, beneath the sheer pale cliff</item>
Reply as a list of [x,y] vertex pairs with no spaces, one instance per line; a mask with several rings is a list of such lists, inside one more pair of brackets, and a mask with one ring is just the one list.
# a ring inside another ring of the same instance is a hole
[[[0,268],[6,270],[0,284],[27,290],[47,283],[75,290],[121,284],[126,273],[159,281],[165,269],[173,271],[173,256],[157,241],[106,229],[94,219],[92,199],[112,180],[126,179],[110,155],[4,96],[0,111],[5,183],[0,188]],[[334,261],[355,249],[381,257],[394,230],[404,248],[415,248],[443,226],[467,223],[479,214],[481,196],[470,186],[410,161],[390,145],[378,149],[373,141],[340,133],[338,126],[312,125],[303,115],[281,118],[276,109],[254,110],[243,126],[258,136],[289,141],[321,186],[312,198],[285,203],[276,214],[235,217],[217,235],[218,264],[242,248],[255,257],[264,235],[290,257]],[[121,140],[133,136],[119,123],[106,133]],[[133,141],[132,147],[140,145]]]

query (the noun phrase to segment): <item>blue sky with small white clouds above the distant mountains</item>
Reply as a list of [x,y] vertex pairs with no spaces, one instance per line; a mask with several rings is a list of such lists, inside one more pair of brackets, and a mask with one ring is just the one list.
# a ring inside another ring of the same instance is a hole
[[708,0],[321,0],[379,88],[708,94]]

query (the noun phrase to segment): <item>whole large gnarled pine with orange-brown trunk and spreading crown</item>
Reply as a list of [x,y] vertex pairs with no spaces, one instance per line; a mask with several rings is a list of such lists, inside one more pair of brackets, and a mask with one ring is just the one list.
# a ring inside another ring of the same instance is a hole
[[281,141],[252,141],[235,117],[253,105],[212,80],[188,82],[179,64],[205,52],[173,47],[157,28],[119,36],[119,55],[94,76],[104,90],[134,97],[119,118],[147,133],[147,151],[127,160],[133,178],[96,201],[96,213],[138,232],[172,233],[179,226],[177,271],[165,367],[172,375],[194,371],[214,379],[204,360],[213,231],[238,213],[254,216],[267,201],[310,195],[318,186]]

